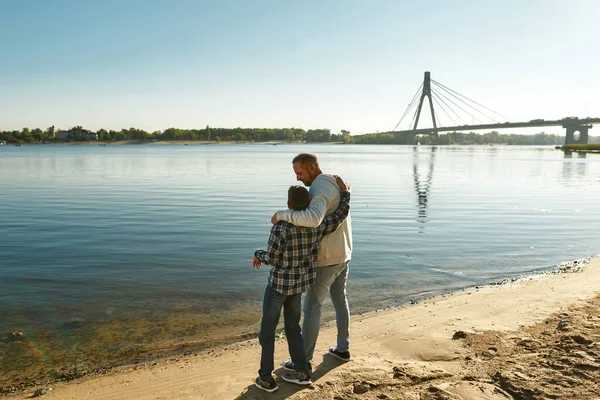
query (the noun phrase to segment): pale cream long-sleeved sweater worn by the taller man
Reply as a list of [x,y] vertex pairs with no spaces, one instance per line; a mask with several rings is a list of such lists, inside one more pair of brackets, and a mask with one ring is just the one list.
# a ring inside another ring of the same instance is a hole
[[[309,189],[310,205],[304,211],[278,211],[277,219],[294,225],[317,227],[326,215],[337,210],[340,188],[331,175],[321,174]],[[337,230],[323,238],[317,256],[317,267],[341,264],[352,257],[352,222],[350,215]]]

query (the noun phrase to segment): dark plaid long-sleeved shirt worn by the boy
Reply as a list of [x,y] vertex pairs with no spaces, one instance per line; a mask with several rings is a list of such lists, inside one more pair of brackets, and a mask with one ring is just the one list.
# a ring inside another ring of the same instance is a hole
[[266,250],[256,250],[254,256],[270,265],[269,283],[286,296],[302,293],[313,283],[317,270],[317,252],[324,236],[333,233],[348,216],[350,192],[342,192],[338,209],[323,219],[316,228],[279,221],[271,228]]

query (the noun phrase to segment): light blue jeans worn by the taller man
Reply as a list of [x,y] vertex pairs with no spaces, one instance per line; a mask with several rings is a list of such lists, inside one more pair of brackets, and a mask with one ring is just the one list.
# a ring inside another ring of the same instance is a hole
[[317,267],[315,283],[306,292],[304,298],[304,322],[302,336],[306,345],[306,359],[310,362],[315,353],[319,327],[321,323],[321,305],[327,297],[335,309],[335,321],[338,329],[337,349],[348,351],[350,342],[350,308],[346,294],[349,261],[327,267]]

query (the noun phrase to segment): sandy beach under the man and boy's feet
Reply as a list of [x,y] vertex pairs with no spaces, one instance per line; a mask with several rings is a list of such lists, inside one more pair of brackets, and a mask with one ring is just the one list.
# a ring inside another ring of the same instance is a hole
[[[336,334],[335,324],[325,326],[310,387],[278,379],[275,393],[255,388],[260,346],[250,340],[52,384],[43,398],[597,399],[599,294],[600,259],[594,258],[560,273],[353,316],[352,361],[325,355]],[[280,339],[276,365],[286,359]]]

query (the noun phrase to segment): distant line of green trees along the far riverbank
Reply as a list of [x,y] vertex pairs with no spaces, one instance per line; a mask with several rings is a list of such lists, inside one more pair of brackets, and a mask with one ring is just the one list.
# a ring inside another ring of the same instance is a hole
[[[143,129],[129,128],[116,130],[100,129],[96,132],[74,126],[68,130],[56,129],[54,126],[44,130],[23,128],[22,130],[0,131],[0,140],[8,143],[53,143],[59,141],[88,141],[89,135],[97,135],[99,141],[123,140],[167,140],[167,141],[286,141],[286,142],[317,142],[317,143],[356,143],[356,144],[508,144],[508,145],[562,145],[564,135],[551,135],[544,132],[535,135],[489,133],[449,132],[435,138],[429,135],[414,136],[410,133],[384,132],[365,135],[351,135],[342,130],[339,134],[331,133],[329,129],[300,128],[213,128],[203,129],[168,128],[163,131],[147,132]],[[95,136],[94,135],[94,136]],[[600,143],[600,137],[590,137],[590,143]]]

